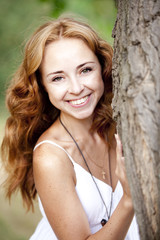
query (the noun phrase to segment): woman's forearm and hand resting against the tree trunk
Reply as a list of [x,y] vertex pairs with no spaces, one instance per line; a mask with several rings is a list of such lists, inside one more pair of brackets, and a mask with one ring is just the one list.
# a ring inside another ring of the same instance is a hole
[[94,240],[123,240],[134,216],[133,204],[128,181],[126,178],[124,157],[122,157],[122,144],[118,135],[115,135],[116,147],[116,175],[123,187],[123,196],[107,224],[88,239]]

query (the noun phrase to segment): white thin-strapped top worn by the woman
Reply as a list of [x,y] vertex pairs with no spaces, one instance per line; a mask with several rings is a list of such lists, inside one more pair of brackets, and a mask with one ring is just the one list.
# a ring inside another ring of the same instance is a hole
[[[60,145],[50,140],[45,140],[38,143],[35,146],[34,150],[43,143],[49,143],[62,149],[68,155],[69,159],[73,163],[75,174],[76,174],[76,180],[77,180],[76,187],[75,187],[77,195],[88,217],[88,222],[90,225],[91,232],[92,233],[97,232],[102,228],[101,220],[103,218],[107,219],[107,216],[106,216],[106,208],[104,206],[104,203],[102,202],[102,199],[98,193],[98,190],[95,186],[95,183],[93,182],[93,179],[90,173],[86,171],[84,168],[82,168],[79,164],[77,164],[64,148],[62,148]],[[107,209],[110,209],[112,188],[108,184],[104,183],[103,181],[95,177],[94,179],[98,185],[98,188],[101,192],[103,200],[105,201]],[[122,189],[121,183],[118,182],[116,189],[113,192],[111,214],[117,207],[122,195],[123,195],[123,189]],[[44,212],[44,209],[39,197],[38,197],[38,200],[39,200],[40,211],[43,217],[40,223],[38,224],[35,230],[35,233],[30,238],[30,240],[57,240],[57,237],[54,234],[48,222],[48,219],[46,217],[46,214]],[[140,237],[138,232],[138,225],[136,222],[136,218],[134,217],[125,240],[139,240],[139,239]]]

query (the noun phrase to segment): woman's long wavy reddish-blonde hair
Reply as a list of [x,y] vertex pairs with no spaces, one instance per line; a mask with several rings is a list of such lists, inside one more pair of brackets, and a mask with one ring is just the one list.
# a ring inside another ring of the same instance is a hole
[[97,131],[103,139],[107,136],[110,143],[115,132],[111,108],[112,47],[81,21],[59,18],[43,24],[26,44],[23,61],[7,90],[10,117],[1,146],[2,160],[8,172],[6,195],[10,199],[13,192],[20,190],[28,210],[33,209],[37,193],[33,178],[33,147],[60,113],[50,103],[43,88],[40,65],[46,45],[60,38],[81,39],[98,57],[105,88],[94,111],[91,131]]

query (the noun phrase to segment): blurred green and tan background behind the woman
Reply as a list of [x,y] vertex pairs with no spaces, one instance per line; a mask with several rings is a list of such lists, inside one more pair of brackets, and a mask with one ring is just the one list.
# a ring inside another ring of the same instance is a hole
[[[5,91],[21,62],[24,44],[48,17],[57,18],[63,13],[84,17],[102,38],[113,44],[114,0],[0,0],[0,143],[8,116]],[[3,178],[1,168],[0,184]],[[26,213],[20,194],[13,196],[9,204],[0,187],[0,240],[29,239],[40,218],[37,202],[35,212]]]

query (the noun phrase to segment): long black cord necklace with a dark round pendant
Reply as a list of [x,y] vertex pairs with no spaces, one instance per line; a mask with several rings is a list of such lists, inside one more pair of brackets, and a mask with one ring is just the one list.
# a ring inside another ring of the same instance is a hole
[[[101,200],[102,200],[102,202],[103,202],[103,204],[104,204],[104,206],[105,206],[106,214],[107,214],[107,217],[108,217],[108,220],[109,220],[109,219],[110,219],[110,216],[111,216],[111,209],[112,209],[113,191],[112,191],[112,193],[111,193],[111,204],[110,204],[110,209],[109,209],[109,212],[108,212],[107,206],[106,206],[105,201],[104,201],[104,199],[103,199],[103,197],[102,197],[102,194],[101,194],[101,192],[100,192],[100,190],[99,190],[99,187],[98,187],[98,185],[97,185],[97,183],[96,183],[96,181],[95,181],[95,179],[94,179],[94,177],[93,177],[93,174],[92,174],[92,172],[91,172],[91,170],[90,170],[90,168],[89,168],[89,166],[88,166],[88,163],[87,163],[87,161],[86,161],[86,159],[85,159],[85,157],[84,157],[84,155],[83,155],[83,153],[82,153],[82,151],[81,151],[78,143],[76,142],[76,140],[74,139],[74,137],[72,136],[72,134],[69,132],[69,130],[66,128],[66,126],[63,124],[63,122],[61,121],[60,116],[59,116],[59,121],[60,121],[61,125],[64,127],[64,129],[66,130],[66,132],[70,135],[70,137],[72,138],[73,142],[76,144],[76,146],[77,146],[77,148],[78,148],[78,150],[79,150],[79,152],[80,152],[80,154],[81,154],[81,156],[82,156],[82,158],[83,158],[83,160],[84,160],[84,162],[85,162],[85,164],[86,164],[86,167],[87,167],[87,169],[88,169],[88,172],[90,173],[90,175],[91,175],[91,177],[92,177],[92,180],[93,180],[93,182],[94,182],[94,184],[95,184],[95,186],[96,186],[96,188],[97,188],[97,191],[98,191],[98,193],[99,193],[99,195],[100,195],[100,198],[101,198]],[[110,169],[110,158],[109,158],[109,174],[110,174],[110,182],[111,182],[111,187],[112,187],[112,178],[111,178],[111,169]],[[101,225],[104,226],[104,225],[108,222],[108,220],[102,219],[102,220],[101,220]]]

